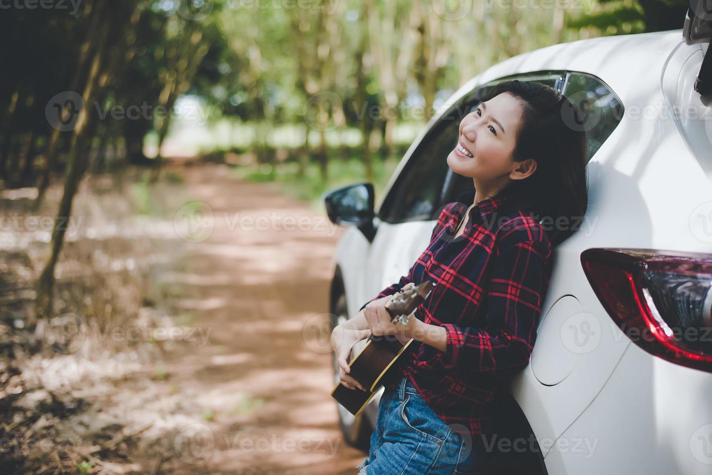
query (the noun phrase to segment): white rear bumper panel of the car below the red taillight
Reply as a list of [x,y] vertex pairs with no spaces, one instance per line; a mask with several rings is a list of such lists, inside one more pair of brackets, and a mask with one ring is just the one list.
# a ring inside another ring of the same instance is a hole
[[552,444],[549,474],[708,475],[710,374],[630,345],[601,393]]

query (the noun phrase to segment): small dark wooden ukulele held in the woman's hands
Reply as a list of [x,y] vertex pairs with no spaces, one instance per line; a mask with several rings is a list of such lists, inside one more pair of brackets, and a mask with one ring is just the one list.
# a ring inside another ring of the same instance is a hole
[[[426,280],[422,284],[396,292],[385,305],[392,317],[392,324],[407,325],[416,307],[425,300],[433,287],[434,284]],[[349,363],[351,368],[349,375],[369,390],[349,389],[337,383],[331,391],[332,397],[353,415],[359,415],[375,395],[379,385],[387,384],[399,375],[402,356],[408,353],[407,348],[413,341],[411,338],[403,344],[395,335],[370,334],[366,338],[365,345],[355,356],[352,350]]]

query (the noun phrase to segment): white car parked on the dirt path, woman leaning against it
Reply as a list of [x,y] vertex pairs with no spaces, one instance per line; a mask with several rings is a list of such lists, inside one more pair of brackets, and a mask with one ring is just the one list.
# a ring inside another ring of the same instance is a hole
[[[587,111],[589,208],[555,247],[530,363],[498,411],[509,442],[492,463],[511,469],[502,473],[712,474],[712,110],[696,90],[710,95],[712,33],[710,16],[691,17],[682,30],[494,65],[431,119],[379,206],[369,183],[324,196],[330,218],[348,226],[333,257],[336,324],[407,274],[441,208],[472,186],[446,156],[483,92],[540,81]],[[356,418],[339,407],[358,447],[378,399]]]

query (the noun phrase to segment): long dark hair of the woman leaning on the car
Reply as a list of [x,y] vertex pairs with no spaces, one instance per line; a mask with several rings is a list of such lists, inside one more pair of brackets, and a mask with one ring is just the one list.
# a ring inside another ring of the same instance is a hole
[[586,133],[576,127],[579,110],[560,92],[540,82],[500,82],[481,100],[503,92],[517,98],[522,108],[512,158],[534,159],[537,168],[498,193],[508,198],[499,213],[523,210],[537,220],[545,219],[542,226],[550,242],[560,244],[580,228],[588,206],[588,149]]

